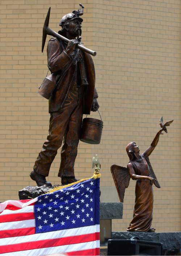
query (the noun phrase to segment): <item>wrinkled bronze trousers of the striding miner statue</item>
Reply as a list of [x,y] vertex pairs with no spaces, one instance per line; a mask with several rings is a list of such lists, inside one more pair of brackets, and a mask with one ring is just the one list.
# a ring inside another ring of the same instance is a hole
[[49,135],[33,167],[38,174],[49,175],[51,163],[64,139],[58,176],[75,177],[74,164],[83,117],[82,98],[80,89],[69,91],[63,107],[50,113]]

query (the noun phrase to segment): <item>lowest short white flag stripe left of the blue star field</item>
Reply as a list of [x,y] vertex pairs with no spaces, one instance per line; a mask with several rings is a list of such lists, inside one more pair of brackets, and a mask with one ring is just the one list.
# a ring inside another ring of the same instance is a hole
[[0,230],[35,227],[35,219],[0,223]]

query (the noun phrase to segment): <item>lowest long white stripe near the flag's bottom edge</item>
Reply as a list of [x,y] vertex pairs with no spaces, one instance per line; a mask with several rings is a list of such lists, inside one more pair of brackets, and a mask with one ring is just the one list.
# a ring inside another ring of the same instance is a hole
[[[55,247],[46,247],[46,248],[40,248],[40,249],[33,249],[33,250],[26,250],[26,251],[16,251],[16,252],[9,252],[9,253],[2,253],[0,256],[40,256],[40,255],[49,255],[54,253],[76,253],[83,250],[89,250],[93,248],[99,248],[100,247],[100,240],[86,242],[86,243],[80,243],[80,244],[71,244],[70,245],[60,245]],[[81,254],[80,254],[81,255]]]

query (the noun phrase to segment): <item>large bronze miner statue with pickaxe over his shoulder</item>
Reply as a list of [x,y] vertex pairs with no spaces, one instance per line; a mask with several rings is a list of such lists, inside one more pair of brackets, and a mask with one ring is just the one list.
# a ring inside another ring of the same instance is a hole
[[30,173],[31,179],[35,180],[38,186],[51,186],[51,183],[46,181],[46,176],[49,175],[51,163],[58,148],[62,145],[62,140],[58,176],[62,178],[63,185],[77,181],[74,175],[74,163],[82,117],[83,114],[90,114],[90,111],[97,111],[99,108],[95,89],[94,64],[89,55],[90,53],[95,56],[96,52],[85,48],[81,43],[83,19],[80,16],[83,15],[84,7],[81,4],[80,6],[82,9],[62,17],[59,24],[62,29],[58,33],[48,27],[49,8],[43,27],[42,50],[46,35],[55,36],[49,40],[47,45],[47,60],[51,77],[46,77],[41,87],[47,85],[47,81],[50,84],[53,83],[55,79],[55,88],[50,98],[47,97],[50,113],[49,135]]

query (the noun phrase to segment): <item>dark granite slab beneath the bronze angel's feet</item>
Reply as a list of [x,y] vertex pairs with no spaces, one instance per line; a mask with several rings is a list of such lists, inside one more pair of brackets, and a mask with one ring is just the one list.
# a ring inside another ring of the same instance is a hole
[[181,232],[112,232],[111,239],[130,239],[132,236],[137,236],[140,240],[163,243],[163,249],[181,248]]

